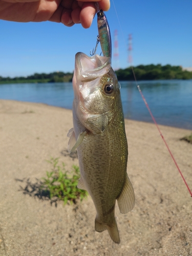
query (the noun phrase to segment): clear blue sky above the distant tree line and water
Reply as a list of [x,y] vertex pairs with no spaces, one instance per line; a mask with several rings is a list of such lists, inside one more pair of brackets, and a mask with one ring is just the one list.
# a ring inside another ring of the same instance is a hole
[[[114,46],[118,30],[120,68],[127,62],[128,35],[133,35],[133,66],[140,64],[192,67],[191,0],[114,0],[106,12]],[[121,26],[121,27],[120,27]],[[0,76],[35,72],[73,72],[77,52],[95,47],[97,19],[89,29],[52,22],[14,23],[0,20]],[[98,53],[100,51],[98,50]],[[114,53],[114,47],[113,47]],[[117,63],[112,59],[112,66]]]

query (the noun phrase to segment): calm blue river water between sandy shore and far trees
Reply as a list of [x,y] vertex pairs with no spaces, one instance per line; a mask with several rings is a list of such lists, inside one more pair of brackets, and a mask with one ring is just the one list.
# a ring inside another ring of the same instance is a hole
[[[139,81],[158,124],[192,130],[192,80]],[[0,98],[72,109],[72,83],[0,84]],[[153,122],[135,82],[121,82],[125,118]]]

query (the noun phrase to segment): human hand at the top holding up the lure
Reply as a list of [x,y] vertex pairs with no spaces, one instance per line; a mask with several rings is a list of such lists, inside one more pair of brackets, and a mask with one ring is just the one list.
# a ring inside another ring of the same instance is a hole
[[[91,2],[92,1],[92,2]],[[108,11],[110,0],[0,0],[0,19],[13,22],[63,23],[71,27],[81,23],[89,28],[96,13],[95,3]]]

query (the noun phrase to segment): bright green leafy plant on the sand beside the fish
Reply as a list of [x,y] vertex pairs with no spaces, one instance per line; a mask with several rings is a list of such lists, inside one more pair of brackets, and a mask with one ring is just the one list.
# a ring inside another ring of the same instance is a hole
[[52,165],[51,172],[46,172],[47,177],[42,178],[44,181],[41,184],[41,189],[45,190],[50,199],[56,197],[56,200],[62,200],[64,204],[76,203],[77,199],[81,201],[86,198],[88,193],[86,190],[77,188],[78,179],[80,177],[79,167],[73,165],[73,174],[68,174],[65,169],[65,164],[58,164],[59,158],[51,158],[48,162]]

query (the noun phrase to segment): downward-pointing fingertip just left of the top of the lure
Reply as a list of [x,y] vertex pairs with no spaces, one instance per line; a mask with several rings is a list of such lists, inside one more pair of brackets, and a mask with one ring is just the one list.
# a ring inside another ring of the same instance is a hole
[[80,12],[80,23],[83,28],[90,28],[93,18],[95,16],[95,4],[94,3],[84,3]]

